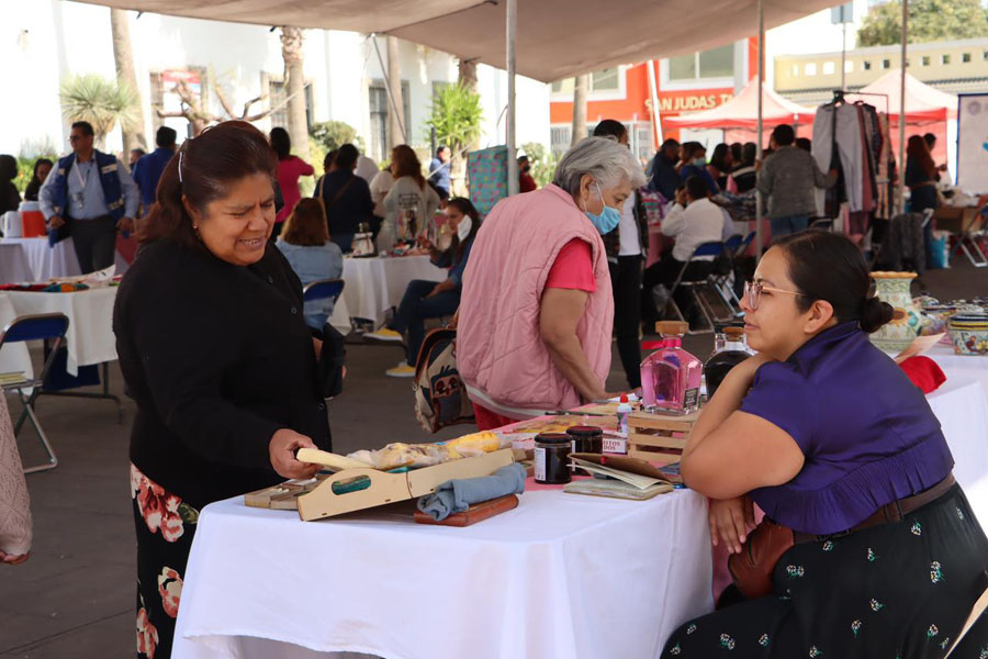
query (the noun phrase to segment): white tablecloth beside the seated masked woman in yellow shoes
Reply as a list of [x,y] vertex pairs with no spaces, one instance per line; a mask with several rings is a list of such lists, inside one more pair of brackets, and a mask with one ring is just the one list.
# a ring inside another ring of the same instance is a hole
[[[384,312],[397,306],[413,279],[442,281],[447,271],[427,256],[344,258],[344,297],[351,317],[384,322]],[[335,325],[336,323],[334,323]]]

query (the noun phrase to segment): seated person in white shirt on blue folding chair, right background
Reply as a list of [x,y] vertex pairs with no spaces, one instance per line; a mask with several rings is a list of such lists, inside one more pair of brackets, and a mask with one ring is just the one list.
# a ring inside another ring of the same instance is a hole
[[[722,239],[723,226],[723,212],[708,198],[704,180],[698,176],[686,179],[686,185],[676,191],[676,202],[662,221],[662,233],[675,238],[676,243],[659,263],[645,269],[642,276],[644,294],[652,298],[652,291],[656,286],[663,284],[666,288],[672,286],[683,269],[683,264],[693,256],[694,249],[704,243]],[[714,257],[705,256],[700,259],[699,263],[689,265],[684,279],[697,280],[710,272]],[[676,304],[686,313],[689,305],[686,291],[678,291],[676,295]],[[649,304],[645,306],[652,314],[648,320],[660,320],[662,309]]]

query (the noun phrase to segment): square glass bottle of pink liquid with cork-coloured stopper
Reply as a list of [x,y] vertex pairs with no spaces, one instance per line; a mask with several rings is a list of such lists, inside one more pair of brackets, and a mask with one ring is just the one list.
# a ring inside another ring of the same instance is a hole
[[660,348],[641,362],[642,410],[653,414],[689,414],[699,409],[704,364],[683,349],[689,325],[678,321],[655,323]]

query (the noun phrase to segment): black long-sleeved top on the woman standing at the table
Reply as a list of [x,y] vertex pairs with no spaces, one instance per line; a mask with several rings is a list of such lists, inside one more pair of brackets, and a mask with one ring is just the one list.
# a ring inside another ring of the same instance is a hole
[[121,283],[113,331],[137,402],[131,460],[190,505],[284,480],[268,454],[280,428],[330,449],[302,284],[271,245],[248,267],[146,246]]

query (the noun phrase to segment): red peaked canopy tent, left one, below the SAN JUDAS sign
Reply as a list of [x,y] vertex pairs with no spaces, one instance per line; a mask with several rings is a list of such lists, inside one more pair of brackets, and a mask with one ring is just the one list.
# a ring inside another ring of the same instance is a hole
[[811,124],[816,109],[804,108],[775,93],[768,87],[760,86],[752,78],[738,96],[730,101],[694,114],[673,116],[663,124],[672,129],[748,129],[759,127],[759,88],[762,89],[762,123],[764,126],[778,124]]

